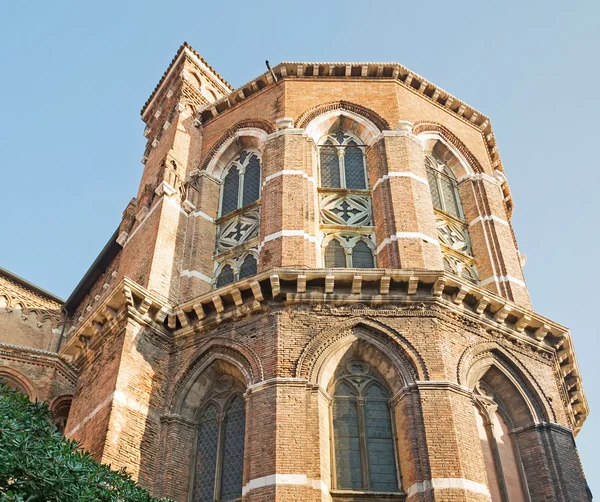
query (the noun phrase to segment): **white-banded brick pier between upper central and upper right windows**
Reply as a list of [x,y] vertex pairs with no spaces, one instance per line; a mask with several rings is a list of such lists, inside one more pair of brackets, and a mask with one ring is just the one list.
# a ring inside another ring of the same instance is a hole
[[412,124],[401,120],[395,131],[383,131],[383,143],[387,170],[372,182],[375,224],[387,226],[391,233],[377,242],[378,263],[395,266],[399,261],[404,269],[443,270],[423,148],[412,134]]

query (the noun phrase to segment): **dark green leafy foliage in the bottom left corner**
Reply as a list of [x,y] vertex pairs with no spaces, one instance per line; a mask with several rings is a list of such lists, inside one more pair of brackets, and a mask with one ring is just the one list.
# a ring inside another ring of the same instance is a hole
[[0,384],[0,500],[155,502],[124,470],[96,462],[52,424],[46,403]]

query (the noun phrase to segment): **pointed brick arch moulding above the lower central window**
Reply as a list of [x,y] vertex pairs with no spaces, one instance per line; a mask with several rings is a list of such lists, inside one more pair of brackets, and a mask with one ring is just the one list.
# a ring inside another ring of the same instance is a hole
[[363,317],[340,322],[316,335],[298,360],[296,376],[327,388],[338,363],[355,342],[364,342],[381,355],[386,370],[380,372],[395,381],[394,385],[388,383],[396,392],[410,382],[428,378],[423,360],[402,335]]

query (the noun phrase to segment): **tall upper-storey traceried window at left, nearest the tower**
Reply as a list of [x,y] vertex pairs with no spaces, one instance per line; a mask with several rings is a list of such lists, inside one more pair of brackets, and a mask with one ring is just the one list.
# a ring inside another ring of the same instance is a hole
[[261,195],[260,155],[242,151],[223,171],[215,245],[215,287],[255,275]]

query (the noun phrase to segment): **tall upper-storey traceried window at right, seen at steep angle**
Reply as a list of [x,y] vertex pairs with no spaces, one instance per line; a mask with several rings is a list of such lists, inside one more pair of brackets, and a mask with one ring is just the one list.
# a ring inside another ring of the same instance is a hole
[[427,155],[425,164],[438,239],[444,255],[444,268],[469,281],[477,282],[479,278],[456,176],[436,153]]

